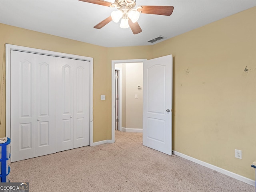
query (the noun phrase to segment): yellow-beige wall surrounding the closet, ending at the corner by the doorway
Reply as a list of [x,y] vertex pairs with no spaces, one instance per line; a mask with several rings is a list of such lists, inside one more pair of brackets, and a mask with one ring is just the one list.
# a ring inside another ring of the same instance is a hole
[[[111,95],[108,93],[111,86],[109,87],[108,73],[106,73],[108,71],[107,48],[0,24],[0,74],[2,74],[2,67],[5,65],[4,46],[6,43],[94,58],[93,110],[95,134],[93,140],[97,142],[111,139],[111,135],[108,136],[107,134],[108,130],[111,130],[109,117],[102,116],[102,114],[111,113],[111,110],[108,109],[108,100],[111,101]],[[2,82],[2,75],[0,79]],[[5,95],[5,90],[1,91],[0,95],[2,93]],[[100,100],[101,94],[106,94],[106,101]],[[0,137],[3,137],[5,136],[5,100],[1,102],[1,107],[4,112],[2,113]]]

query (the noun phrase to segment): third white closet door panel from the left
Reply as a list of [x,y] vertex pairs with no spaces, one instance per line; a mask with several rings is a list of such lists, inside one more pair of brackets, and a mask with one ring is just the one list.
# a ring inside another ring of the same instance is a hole
[[56,58],[56,152],[74,148],[74,60]]

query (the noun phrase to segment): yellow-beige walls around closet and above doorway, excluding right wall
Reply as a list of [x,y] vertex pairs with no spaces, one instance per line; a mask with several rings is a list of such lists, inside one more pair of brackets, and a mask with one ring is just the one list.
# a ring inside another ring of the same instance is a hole
[[[151,46],[105,48],[71,39],[0,24],[0,82],[5,82],[5,44],[14,44],[94,59],[93,76],[93,142],[111,139],[111,61],[148,58]],[[2,118],[0,137],[5,136],[5,84],[0,91]],[[100,100],[106,95],[106,100]],[[1,111],[0,108],[0,111]]]

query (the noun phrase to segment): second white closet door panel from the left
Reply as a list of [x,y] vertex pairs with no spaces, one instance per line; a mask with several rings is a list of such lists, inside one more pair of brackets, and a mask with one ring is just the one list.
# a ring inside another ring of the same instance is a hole
[[56,57],[36,54],[35,156],[56,152]]

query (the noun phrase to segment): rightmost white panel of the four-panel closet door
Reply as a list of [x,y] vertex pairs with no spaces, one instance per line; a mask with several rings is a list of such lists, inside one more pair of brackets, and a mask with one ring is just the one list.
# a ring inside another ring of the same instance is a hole
[[89,145],[90,62],[74,60],[74,148]]

